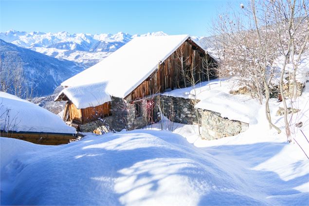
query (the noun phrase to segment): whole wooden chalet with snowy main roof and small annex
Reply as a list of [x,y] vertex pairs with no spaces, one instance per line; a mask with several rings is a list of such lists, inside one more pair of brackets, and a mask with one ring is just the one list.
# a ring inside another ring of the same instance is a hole
[[[137,37],[63,82],[61,85],[66,88],[55,101],[67,101],[63,118],[76,128],[113,115],[118,116],[110,123],[119,121],[117,118],[122,118],[122,112],[116,108],[119,99],[124,100],[127,111],[135,113],[133,121],[138,121],[145,106],[138,102],[164,91],[206,81],[208,75],[214,78],[217,64],[214,57],[187,35]],[[100,84],[104,87],[93,86]],[[132,102],[137,102],[134,107]],[[114,128],[121,130],[121,127]]]

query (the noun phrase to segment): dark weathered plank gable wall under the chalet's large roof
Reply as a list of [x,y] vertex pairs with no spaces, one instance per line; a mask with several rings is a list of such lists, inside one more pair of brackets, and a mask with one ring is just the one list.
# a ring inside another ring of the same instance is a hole
[[[205,68],[205,61],[208,68]],[[160,64],[158,62],[158,69],[129,95],[131,100],[136,100],[166,90],[190,87],[193,83],[206,81],[207,69],[213,70],[216,66],[214,59],[192,40],[187,39],[164,62]],[[213,75],[210,76],[210,78],[213,77]]]

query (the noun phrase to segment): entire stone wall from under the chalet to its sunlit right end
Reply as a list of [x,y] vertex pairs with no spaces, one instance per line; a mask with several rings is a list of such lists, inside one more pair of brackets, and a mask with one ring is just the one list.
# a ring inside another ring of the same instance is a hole
[[[136,117],[135,103],[127,99],[112,97],[111,115],[105,117],[109,128],[115,131],[123,129],[134,130],[145,127],[148,124],[147,118],[147,98],[140,100],[140,116]],[[240,132],[246,131],[249,124],[223,118],[217,112],[195,109],[194,106],[200,100],[185,99],[182,97],[157,95],[153,98],[154,110],[153,121],[157,121],[159,105],[164,115],[173,122],[182,124],[198,124],[200,121],[201,136],[203,139],[212,140],[227,136],[234,136]],[[159,104],[160,103],[160,104]],[[199,119],[198,119],[199,118]],[[98,120],[100,121],[100,120]],[[80,131],[93,132],[101,131],[98,122],[91,122],[80,125]],[[107,129],[106,129],[107,130]]]

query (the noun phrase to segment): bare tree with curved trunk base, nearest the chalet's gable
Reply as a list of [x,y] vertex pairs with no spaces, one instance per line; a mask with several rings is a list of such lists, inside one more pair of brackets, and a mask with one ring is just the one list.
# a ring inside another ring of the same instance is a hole
[[272,122],[269,108],[270,86],[276,68],[273,61],[277,50],[273,43],[273,32],[268,23],[270,10],[254,0],[240,11],[219,15],[214,25],[218,42],[223,50],[223,70],[233,76],[237,86],[245,86],[259,103],[265,102],[265,114],[270,128],[280,129]]

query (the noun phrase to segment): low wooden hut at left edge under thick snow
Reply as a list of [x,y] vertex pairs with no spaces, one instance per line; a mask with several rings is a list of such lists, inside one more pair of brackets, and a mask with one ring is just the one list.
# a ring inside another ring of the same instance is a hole
[[12,94],[0,92],[0,137],[60,145],[76,139],[76,130],[52,112]]

